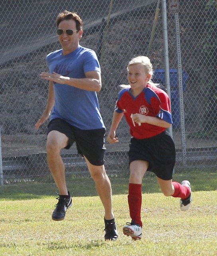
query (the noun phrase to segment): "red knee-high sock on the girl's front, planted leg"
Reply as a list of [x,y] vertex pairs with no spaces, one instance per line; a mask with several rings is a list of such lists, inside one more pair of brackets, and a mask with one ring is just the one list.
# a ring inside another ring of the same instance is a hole
[[129,184],[128,204],[130,218],[142,227],[141,206],[142,206],[142,184]]

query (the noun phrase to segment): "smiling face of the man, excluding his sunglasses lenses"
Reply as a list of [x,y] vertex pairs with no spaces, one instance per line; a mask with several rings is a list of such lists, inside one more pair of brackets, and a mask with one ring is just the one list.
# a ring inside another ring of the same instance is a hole
[[[79,40],[83,34],[83,30],[76,31],[75,20],[63,20],[59,23],[58,29],[62,29],[63,33],[58,35],[59,42],[63,48],[63,54],[68,54],[77,49]],[[72,35],[67,34],[66,30],[70,29],[73,32]]]

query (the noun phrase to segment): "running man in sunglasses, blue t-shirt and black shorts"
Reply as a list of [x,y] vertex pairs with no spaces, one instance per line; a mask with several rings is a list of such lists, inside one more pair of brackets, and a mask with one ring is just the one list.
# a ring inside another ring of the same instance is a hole
[[47,55],[49,80],[46,108],[36,129],[50,118],[47,131],[47,162],[59,198],[53,220],[63,220],[72,199],[67,190],[62,148],[76,143],[78,153],[86,162],[105,208],[105,240],[118,238],[112,212],[111,185],[104,167],[105,125],[99,112],[97,92],[101,90],[101,68],[95,52],[79,44],[83,22],[75,12],[64,11],[57,16],[57,35],[62,49]]

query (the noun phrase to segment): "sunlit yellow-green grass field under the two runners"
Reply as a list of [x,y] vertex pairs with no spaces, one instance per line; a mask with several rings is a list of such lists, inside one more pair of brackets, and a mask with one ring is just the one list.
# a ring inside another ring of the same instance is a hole
[[111,177],[117,241],[104,240],[104,211],[91,178],[68,178],[73,207],[63,221],[51,220],[53,183],[19,182],[0,187],[1,256],[216,256],[217,172],[191,171],[174,174],[189,179],[192,207],[179,209],[179,199],[160,193],[156,178],[143,182],[143,238],[133,241],[122,234],[130,221],[128,178]]

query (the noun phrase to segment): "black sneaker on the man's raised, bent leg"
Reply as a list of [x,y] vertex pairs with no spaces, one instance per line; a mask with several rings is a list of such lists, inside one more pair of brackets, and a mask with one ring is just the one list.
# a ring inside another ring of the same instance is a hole
[[72,206],[72,198],[69,194],[69,198],[59,195],[56,199],[58,199],[58,203],[55,205],[56,208],[53,211],[52,220],[63,220],[65,218],[66,210]]

